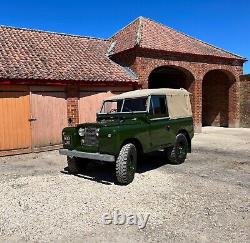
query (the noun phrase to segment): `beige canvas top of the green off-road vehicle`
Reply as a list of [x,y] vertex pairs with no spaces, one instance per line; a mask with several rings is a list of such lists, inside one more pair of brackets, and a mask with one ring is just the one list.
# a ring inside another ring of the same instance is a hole
[[105,100],[120,100],[139,97],[147,97],[149,95],[166,95],[168,104],[168,113],[170,118],[191,117],[192,109],[189,95],[185,89],[139,89],[129,91],[119,95],[111,96]]

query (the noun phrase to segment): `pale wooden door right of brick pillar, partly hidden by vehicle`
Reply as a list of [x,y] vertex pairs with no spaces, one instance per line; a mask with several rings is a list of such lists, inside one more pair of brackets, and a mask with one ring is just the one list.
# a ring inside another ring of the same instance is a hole
[[112,96],[109,92],[81,92],[79,99],[79,122],[95,122],[103,99]]

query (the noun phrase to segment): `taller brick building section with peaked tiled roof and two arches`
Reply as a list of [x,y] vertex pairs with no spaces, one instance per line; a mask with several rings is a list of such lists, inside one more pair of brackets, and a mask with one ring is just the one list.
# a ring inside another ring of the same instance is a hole
[[245,58],[142,17],[111,37],[109,55],[133,69],[143,88],[189,90],[196,131],[202,125],[240,126]]

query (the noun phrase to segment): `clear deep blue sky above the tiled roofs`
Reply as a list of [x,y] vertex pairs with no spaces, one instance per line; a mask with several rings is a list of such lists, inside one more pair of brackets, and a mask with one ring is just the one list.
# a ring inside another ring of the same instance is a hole
[[250,60],[249,0],[2,0],[0,12],[1,25],[104,38],[145,16]]

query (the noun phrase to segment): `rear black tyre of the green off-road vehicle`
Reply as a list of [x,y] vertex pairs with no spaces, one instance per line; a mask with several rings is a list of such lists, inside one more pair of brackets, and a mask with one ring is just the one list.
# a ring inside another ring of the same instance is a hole
[[182,133],[179,133],[176,136],[174,146],[167,148],[165,152],[167,159],[171,164],[182,164],[185,161],[188,152],[188,141],[186,136]]

